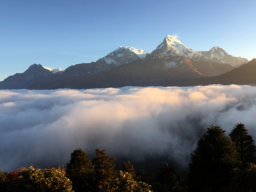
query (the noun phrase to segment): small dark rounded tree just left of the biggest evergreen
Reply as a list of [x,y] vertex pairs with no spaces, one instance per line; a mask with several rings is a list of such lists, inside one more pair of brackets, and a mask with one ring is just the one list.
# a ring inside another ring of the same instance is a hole
[[177,178],[175,169],[171,164],[162,164],[156,179],[159,183],[166,185],[168,191],[176,192],[181,190],[178,181],[179,179]]

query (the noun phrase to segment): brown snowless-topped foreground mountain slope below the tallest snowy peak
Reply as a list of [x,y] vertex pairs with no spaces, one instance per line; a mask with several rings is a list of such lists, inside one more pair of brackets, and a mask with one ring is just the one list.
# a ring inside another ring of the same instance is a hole
[[144,60],[124,64],[98,74],[34,84],[29,89],[181,86],[188,79],[214,76],[223,69],[227,72],[233,68],[229,64],[196,61],[184,56],[155,54]]

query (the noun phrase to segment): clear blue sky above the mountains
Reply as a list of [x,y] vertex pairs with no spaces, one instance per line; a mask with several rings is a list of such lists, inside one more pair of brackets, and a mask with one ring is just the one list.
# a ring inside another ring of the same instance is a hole
[[66,69],[166,35],[196,51],[256,58],[256,1],[1,0],[0,81],[36,63]]

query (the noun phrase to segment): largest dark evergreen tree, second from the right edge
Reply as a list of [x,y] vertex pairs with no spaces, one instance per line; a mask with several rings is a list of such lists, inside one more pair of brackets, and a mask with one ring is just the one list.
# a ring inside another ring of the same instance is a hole
[[210,126],[197,141],[197,148],[191,154],[189,164],[189,190],[212,188],[218,191],[228,186],[231,171],[240,166],[234,143],[220,126]]

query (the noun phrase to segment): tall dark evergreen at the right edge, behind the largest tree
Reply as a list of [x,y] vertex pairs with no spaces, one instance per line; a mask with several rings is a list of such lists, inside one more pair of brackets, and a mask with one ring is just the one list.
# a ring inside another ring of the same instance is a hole
[[235,143],[241,161],[256,164],[256,146],[252,136],[248,135],[248,130],[245,129],[244,124],[237,123],[229,133],[229,137]]

